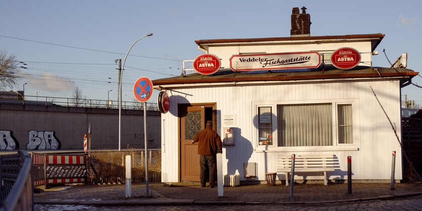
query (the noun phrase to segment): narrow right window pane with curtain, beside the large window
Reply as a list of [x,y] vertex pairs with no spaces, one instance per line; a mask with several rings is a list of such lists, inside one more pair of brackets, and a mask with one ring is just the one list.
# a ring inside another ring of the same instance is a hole
[[352,104],[337,106],[339,124],[339,143],[353,143]]

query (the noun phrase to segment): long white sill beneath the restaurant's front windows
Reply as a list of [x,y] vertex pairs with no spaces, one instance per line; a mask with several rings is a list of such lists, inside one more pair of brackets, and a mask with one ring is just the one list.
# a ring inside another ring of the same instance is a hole
[[298,152],[298,151],[358,151],[359,147],[356,145],[344,146],[258,146],[255,152]]

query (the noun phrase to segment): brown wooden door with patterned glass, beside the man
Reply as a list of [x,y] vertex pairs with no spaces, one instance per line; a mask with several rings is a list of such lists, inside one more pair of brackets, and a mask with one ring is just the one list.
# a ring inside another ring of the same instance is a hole
[[180,180],[200,181],[198,143],[192,144],[195,134],[205,128],[208,120],[217,128],[215,104],[180,105]]

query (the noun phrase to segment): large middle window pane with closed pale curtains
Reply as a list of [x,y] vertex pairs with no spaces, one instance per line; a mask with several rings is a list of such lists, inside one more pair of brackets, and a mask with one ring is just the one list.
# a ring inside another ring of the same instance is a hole
[[277,105],[279,146],[333,145],[331,103]]

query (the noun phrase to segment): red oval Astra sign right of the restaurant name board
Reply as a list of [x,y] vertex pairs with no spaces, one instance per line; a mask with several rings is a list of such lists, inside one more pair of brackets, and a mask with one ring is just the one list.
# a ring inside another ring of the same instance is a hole
[[351,69],[356,67],[360,62],[360,54],[354,48],[342,47],[333,52],[331,55],[331,63],[339,69]]

